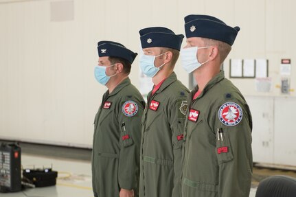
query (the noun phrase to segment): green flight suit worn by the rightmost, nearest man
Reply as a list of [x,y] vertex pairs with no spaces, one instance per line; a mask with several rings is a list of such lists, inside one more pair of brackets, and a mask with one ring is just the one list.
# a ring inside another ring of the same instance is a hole
[[220,71],[195,100],[188,96],[182,197],[249,197],[252,118],[240,91]]

